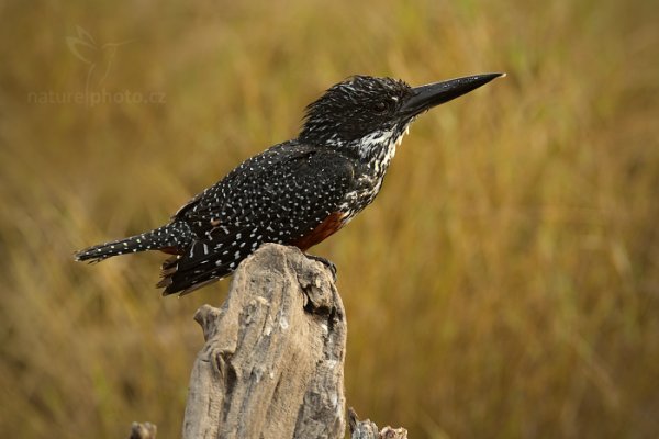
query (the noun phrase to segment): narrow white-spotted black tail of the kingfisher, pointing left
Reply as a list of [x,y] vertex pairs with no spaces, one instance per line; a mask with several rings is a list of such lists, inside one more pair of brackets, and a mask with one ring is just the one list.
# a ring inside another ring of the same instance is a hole
[[110,243],[99,244],[77,251],[77,261],[100,262],[103,259],[118,255],[134,254],[137,251],[161,250],[177,254],[191,241],[192,232],[185,223],[170,223],[142,235],[131,236]]

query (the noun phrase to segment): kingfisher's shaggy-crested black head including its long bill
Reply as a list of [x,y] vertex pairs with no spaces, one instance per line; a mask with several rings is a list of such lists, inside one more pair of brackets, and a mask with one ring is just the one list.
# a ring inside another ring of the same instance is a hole
[[306,108],[300,140],[362,158],[380,155],[379,149],[401,139],[418,114],[502,75],[476,75],[414,88],[398,79],[354,76]]

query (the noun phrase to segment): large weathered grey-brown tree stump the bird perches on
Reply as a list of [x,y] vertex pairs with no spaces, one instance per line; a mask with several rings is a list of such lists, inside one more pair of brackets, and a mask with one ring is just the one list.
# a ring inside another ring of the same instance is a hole
[[221,308],[190,378],[183,439],[343,438],[346,320],[332,274],[300,250],[263,246]]

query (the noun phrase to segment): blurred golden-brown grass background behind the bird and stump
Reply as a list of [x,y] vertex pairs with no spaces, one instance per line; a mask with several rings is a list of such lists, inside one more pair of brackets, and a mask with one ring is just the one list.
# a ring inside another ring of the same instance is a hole
[[[414,438],[657,437],[658,15],[645,0],[0,3],[0,437],[118,438],[132,420],[178,437],[192,315],[228,282],[161,299],[163,256],[72,251],[161,224],[349,75],[493,70],[509,76],[421,117],[376,203],[313,249],[338,266],[348,404]],[[165,101],[57,102],[86,88]]]

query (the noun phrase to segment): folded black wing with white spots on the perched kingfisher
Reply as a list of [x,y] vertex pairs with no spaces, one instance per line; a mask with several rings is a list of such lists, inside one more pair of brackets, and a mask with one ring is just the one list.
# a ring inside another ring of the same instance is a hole
[[163,267],[164,294],[188,293],[232,273],[264,243],[293,245],[336,216],[354,184],[354,162],[304,145],[247,160],[183,207],[198,239]]

